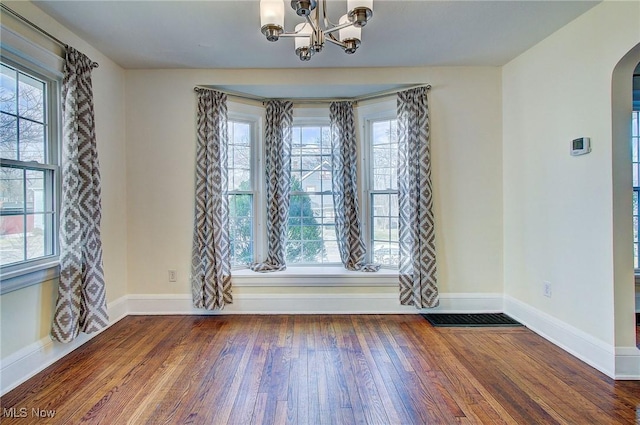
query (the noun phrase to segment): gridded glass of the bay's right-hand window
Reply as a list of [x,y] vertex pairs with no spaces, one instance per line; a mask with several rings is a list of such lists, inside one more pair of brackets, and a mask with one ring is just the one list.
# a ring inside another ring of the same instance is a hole
[[398,136],[396,119],[369,121],[369,210],[371,260],[397,267]]

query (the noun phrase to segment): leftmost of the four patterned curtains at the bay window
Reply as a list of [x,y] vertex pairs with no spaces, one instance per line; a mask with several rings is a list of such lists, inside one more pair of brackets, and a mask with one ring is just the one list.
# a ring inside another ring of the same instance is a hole
[[227,95],[198,93],[196,192],[191,289],[193,305],[207,310],[232,303],[227,198]]

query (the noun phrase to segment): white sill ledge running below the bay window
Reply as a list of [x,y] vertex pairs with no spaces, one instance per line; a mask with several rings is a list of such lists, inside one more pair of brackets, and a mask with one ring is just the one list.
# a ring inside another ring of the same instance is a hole
[[249,269],[231,271],[235,286],[393,286],[398,285],[398,271],[355,272],[340,266],[287,267],[281,272],[259,273]]

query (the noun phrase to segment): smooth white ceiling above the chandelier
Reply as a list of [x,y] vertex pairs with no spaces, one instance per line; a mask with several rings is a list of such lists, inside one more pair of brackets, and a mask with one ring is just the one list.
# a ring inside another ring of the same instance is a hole
[[[375,0],[356,54],[327,45],[310,62],[292,39],[264,38],[258,0],[34,3],[122,67],[151,69],[500,66],[599,1]],[[335,22],[346,1],[328,4]]]

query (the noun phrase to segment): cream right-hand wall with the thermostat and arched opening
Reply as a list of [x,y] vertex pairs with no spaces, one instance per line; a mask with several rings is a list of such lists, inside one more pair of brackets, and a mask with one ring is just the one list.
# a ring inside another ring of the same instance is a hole
[[[604,2],[503,68],[505,295],[613,347],[635,342],[630,304],[616,312],[614,303],[614,289],[633,297],[633,266],[630,177],[627,236],[614,240],[611,82],[638,42],[640,3]],[[571,157],[582,136],[593,151]],[[628,161],[628,140],[619,143]],[[614,243],[627,252],[617,275]]]

